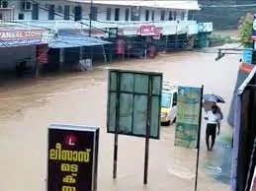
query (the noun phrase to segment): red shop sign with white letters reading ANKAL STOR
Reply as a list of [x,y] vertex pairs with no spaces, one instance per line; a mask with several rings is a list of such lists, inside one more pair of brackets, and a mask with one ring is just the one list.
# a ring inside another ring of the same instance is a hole
[[43,30],[0,30],[0,40],[42,39]]

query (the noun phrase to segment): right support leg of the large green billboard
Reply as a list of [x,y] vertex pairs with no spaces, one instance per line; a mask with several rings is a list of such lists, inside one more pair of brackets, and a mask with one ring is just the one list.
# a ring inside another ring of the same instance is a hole
[[148,81],[148,95],[147,95],[147,117],[146,117],[146,134],[145,134],[145,161],[144,161],[144,185],[147,184],[148,177],[148,158],[149,158],[149,137],[150,137],[150,123],[151,123],[151,92],[152,79],[149,77]]

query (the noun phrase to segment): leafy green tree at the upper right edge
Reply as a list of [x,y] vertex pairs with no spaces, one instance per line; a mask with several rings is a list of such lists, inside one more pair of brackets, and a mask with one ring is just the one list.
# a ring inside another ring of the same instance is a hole
[[251,13],[246,14],[245,17],[242,17],[240,20],[239,26],[239,38],[240,42],[244,47],[252,47],[252,26],[253,26],[253,15]]

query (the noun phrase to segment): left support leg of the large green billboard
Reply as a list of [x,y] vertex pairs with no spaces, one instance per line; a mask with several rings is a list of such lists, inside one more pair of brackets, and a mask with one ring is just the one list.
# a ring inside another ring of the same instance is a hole
[[113,179],[117,178],[118,171],[118,148],[119,148],[119,118],[120,118],[120,73],[117,74],[117,101],[116,101],[116,121],[115,121],[115,141],[114,141],[114,161]]

